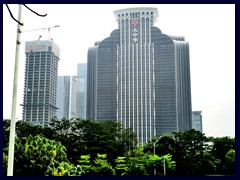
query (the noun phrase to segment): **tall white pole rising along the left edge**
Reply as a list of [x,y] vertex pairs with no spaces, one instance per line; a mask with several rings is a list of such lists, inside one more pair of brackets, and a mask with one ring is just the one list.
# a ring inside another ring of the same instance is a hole
[[[21,18],[22,18],[22,4],[19,4],[18,22],[21,22]],[[18,24],[16,52],[15,52],[14,79],[13,79],[12,114],[11,114],[10,136],[9,136],[7,176],[13,176],[20,34],[21,34],[21,25]]]

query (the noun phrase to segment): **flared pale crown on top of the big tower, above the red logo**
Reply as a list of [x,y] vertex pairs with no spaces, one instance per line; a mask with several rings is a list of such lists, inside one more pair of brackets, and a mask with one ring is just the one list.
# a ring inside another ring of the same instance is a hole
[[158,10],[152,7],[136,7],[127,8],[114,11],[116,21],[120,19],[140,19],[142,17],[150,17],[153,20],[153,24],[157,21]]

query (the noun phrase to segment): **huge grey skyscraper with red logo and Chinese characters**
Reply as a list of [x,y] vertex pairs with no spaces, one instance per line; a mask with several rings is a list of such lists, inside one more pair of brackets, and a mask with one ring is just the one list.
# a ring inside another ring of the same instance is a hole
[[114,14],[118,29],[88,51],[88,116],[133,128],[140,144],[190,129],[188,42],[154,27],[156,8]]

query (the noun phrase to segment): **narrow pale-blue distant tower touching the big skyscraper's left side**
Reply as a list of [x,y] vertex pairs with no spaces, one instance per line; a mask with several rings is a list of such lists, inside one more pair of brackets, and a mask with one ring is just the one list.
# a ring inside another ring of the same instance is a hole
[[77,76],[79,78],[79,91],[78,91],[78,117],[86,119],[86,106],[87,106],[87,63],[77,65]]

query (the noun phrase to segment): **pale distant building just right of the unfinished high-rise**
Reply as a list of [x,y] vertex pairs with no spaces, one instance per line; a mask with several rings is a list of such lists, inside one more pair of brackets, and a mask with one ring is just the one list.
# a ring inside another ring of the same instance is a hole
[[58,76],[57,86],[57,118],[77,118],[77,95],[79,78],[76,76]]

